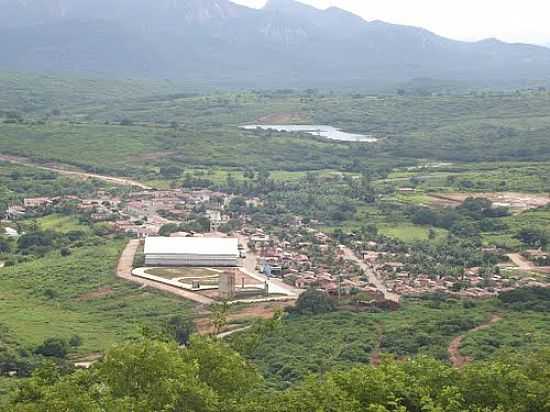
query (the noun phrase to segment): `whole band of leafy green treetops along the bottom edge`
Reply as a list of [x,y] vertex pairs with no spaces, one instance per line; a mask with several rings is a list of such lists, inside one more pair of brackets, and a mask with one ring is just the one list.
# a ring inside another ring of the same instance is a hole
[[270,391],[223,343],[194,338],[189,347],[145,339],[117,346],[88,371],[37,371],[9,410],[46,411],[430,411],[550,410],[550,350],[453,369],[430,358],[386,360],[312,376]]

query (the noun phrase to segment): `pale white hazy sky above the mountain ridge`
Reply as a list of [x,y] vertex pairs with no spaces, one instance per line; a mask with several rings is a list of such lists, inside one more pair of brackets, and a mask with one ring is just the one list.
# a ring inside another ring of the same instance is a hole
[[[262,7],[266,0],[233,0]],[[301,0],[337,6],[366,20],[424,27],[460,40],[497,37],[511,42],[550,43],[549,0]]]

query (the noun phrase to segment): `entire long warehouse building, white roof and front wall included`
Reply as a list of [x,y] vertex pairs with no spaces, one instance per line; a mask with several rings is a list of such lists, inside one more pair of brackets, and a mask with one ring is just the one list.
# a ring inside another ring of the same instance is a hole
[[231,238],[148,237],[146,266],[239,266],[239,241]]

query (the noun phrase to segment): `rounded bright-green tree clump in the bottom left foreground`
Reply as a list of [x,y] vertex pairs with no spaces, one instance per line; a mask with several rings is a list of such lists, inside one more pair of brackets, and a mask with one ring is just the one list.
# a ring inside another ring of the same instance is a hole
[[111,349],[91,370],[61,376],[53,364],[24,381],[8,410],[237,412],[260,377],[221,342],[189,348],[144,338]]

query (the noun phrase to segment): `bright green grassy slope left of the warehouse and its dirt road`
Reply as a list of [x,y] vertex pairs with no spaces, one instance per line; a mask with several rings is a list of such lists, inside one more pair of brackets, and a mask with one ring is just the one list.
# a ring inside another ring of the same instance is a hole
[[187,302],[117,280],[114,268],[121,241],[57,253],[0,269],[2,322],[17,340],[34,346],[47,337],[82,337],[81,353],[102,351],[160,324],[174,314],[189,314]]

